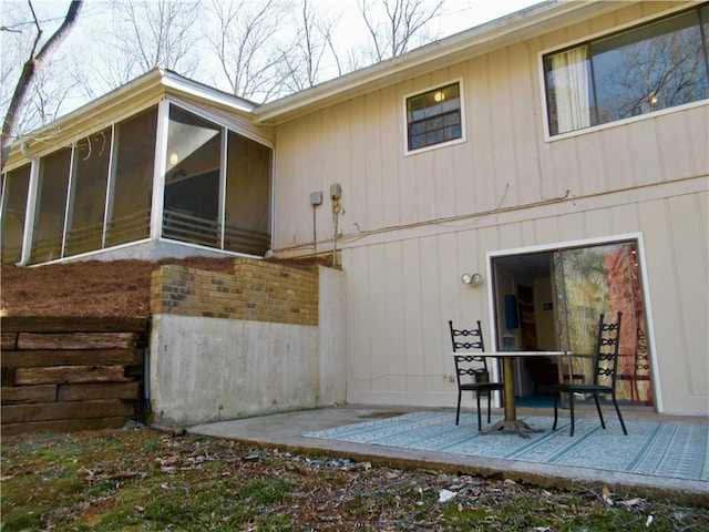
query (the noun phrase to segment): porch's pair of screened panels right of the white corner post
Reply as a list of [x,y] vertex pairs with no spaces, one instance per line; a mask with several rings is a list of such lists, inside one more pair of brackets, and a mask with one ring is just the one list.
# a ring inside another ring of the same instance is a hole
[[176,105],[167,136],[163,237],[263,256],[271,150]]

